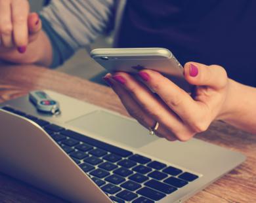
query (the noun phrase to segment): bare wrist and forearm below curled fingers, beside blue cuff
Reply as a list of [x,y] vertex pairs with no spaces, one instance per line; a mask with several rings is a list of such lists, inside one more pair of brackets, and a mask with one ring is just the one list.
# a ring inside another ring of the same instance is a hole
[[20,54],[16,48],[9,52],[1,52],[0,58],[7,62],[17,64],[38,64],[49,66],[53,58],[51,42],[44,31],[40,31],[37,39],[28,45],[24,54]]

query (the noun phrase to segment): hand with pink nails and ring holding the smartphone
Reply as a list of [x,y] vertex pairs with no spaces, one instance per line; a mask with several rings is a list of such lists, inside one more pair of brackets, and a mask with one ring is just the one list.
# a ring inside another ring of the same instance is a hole
[[156,134],[162,138],[186,141],[226,113],[230,80],[219,65],[184,65],[186,81],[196,85],[192,96],[156,71],[145,69],[139,76],[144,83],[122,72],[104,79],[140,124],[152,128],[159,122]]

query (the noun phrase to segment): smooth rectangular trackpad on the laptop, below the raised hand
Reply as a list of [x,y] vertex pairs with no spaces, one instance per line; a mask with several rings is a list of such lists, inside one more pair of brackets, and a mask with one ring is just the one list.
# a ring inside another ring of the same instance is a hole
[[148,130],[135,120],[125,119],[106,111],[94,111],[67,123],[85,130],[85,132],[95,134],[99,138],[102,137],[135,148],[158,139],[156,136],[149,136]]

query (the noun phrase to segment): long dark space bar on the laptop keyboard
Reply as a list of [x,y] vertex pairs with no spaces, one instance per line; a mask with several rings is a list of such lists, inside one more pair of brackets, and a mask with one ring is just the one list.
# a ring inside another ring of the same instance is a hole
[[93,139],[93,138],[89,138],[87,136],[84,136],[83,134],[79,134],[79,133],[74,132],[72,130],[64,130],[61,133],[64,134],[65,136],[69,136],[70,138],[78,139],[78,140],[83,141],[83,142],[85,142],[89,145],[93,145],[93,146],[98,147],[100,149],[104,149],[106,151],[109,151],[109,152],[114,153],[116,155],[119,155],[121,157],[128,157],[128,156],[133,154],[133,153],[131,153],[131,151],[127,151],[125,149],[115,147],[113,145],[104,143],[102,141],[99,141],[99,140],[96,140],[96,139]]

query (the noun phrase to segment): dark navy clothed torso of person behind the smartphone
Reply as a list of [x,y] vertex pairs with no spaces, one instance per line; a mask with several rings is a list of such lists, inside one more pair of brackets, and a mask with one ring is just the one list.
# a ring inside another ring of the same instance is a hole
[[256,1],[129,0],[117,46],[163,47],[184,64],[222,65],[256,86]]

